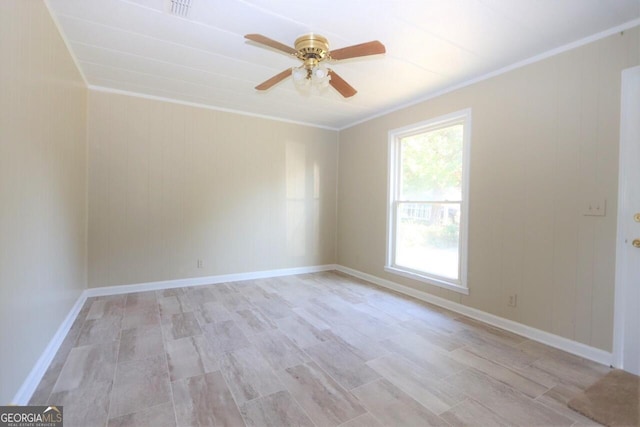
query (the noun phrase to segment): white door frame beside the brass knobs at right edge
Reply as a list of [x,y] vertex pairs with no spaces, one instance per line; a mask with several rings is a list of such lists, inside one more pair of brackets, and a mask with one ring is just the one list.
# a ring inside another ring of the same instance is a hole
[[[628,77],[633,76],[634,77]],[[630,200],[628,199],[627,186],[630,185],[627,178],[628,169],[633,166],[632,161],[632,139],[627,136],[624,129],[633,118],[628,111],[624,111],[624,104],[627,102],[625,98],[625,87],[629,84],[630,79],[638,80],[635,84],[640,84],[640,66],[627,68],[622,71],[621,88],[620,88],[620,155],[618,163],[618,214],[617,214],[617,237],[616,237],[616,275],[615,275],[615,306],[613,319],[613,366],[616,368],[624,368],[624,344],[625,344],[625,306],[626,297],[628,296],[628,288],[631,286],[627,277],[629,260],[627,259],[627,242],[629,228],[628,222],[630,218],[626,216],[629,210]],[[637,120],[637,118],[636,118]],[[638,355],[640,357],[640,355]]]

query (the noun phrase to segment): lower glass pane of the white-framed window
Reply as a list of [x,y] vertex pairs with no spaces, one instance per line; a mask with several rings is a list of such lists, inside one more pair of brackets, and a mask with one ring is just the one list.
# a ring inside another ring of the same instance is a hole
[[396,265],[459,279],[460,203],[398,203]]

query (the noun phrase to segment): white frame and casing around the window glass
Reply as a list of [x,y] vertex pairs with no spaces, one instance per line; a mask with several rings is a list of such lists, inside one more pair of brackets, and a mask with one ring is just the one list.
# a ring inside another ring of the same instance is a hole
[[[420,133],[430,132],[454,124],[463,125],[462,138],[462,199],[460,204],[460,247],[459,247],[459,274],[458,280],[432,275],[426,272],[413,270],[394,263],[396,246],[396,205],[400,191],[400,140],[404,137]],[[385,271],[407,277],[430,285],[449,289],[465,295],[469,295],[467,284],[468,277],[468,237],[469,237],[469,164],[471,154],[471,109],[456,111],[444,116],[435,117],[424,122],[412,124],[389,131],[389,163],[387,186],[387,250]]]

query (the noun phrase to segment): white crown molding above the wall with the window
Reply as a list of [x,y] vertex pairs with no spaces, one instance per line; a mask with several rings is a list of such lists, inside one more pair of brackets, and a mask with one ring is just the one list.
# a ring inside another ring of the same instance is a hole
[[568,44],[566,44],[564,46],[560,46],[560,47],[557,47],[555,49],[548,50],[548,51],[543,52],[543,53],[541,53],[539,55],[532,56],[531,58],[524,59],[522,61],[516,62],[516,63],[511,64],[511,65],[507,65],[506,67],[500,68],[500,69],[495,70],[495,71],[491,71],[491,72],[489,72],[487,74],[483,74],[483,75],[481,75],[479,77],[474,77],[472,79],[469,79],[469,80],[466,80],[464,82],[455,84],[453,86],[449,86],[449,87],[446,87],[444,89],[436,90],[435,92],[431,92],[431,93],[429,93],[427,95],[421,96],[418,99],[415,99],[415,100],[412,100],[412,101],[409,101],[409,102],[406,102],[406,103],[403,103],[403,104],[400,104],[400,105],[396,105],[395,107],[389,108],[387,110],[380,111],[380,112],[378,112],[378,113],[376,113],[376,114],[374,114],[372,116],[368,116],[368,117],[366,117],[364,119],[357,120],[357,121],[355,121],[355,122],[353,122],[351,124],[339,127],[338,130],[339,131],[343,131],[343,130],[349,129],[349,128],[353,127],[353,126],[357,126],[359,124],[368,122],[369,120],[373,120],[373,119],[376,119],[378,117],[386,116],[387,114],[391,114],[391,113],[394,113],[394,112],[399,111],[399,110],[404,110],[405,108],[409,108],[409,107],[412,107],[414,105],[421,104],[423,102],[429,101],[430,99],[434,99],[434,98],[437,98],[439,96],[445,95],[445,94],[447,94],[449,92],[454,92],[454,91],[456,91],[458,89],[462,89],[464,87],[471,86],[472,84],[479,83],[479,82],[481,82],[483,80],[488,80],[488,79],[490,79],[492,77],[499,76],[500,74],[504,74],[504,73],[508,73],[509,71],[517,70],[518,68],[522,68],[525,65],[529,65],[529,64],[533,64],[535,62],[539,62],[539,61],[545,60],[545,59],[550,58],[552,56],[561,54],[563,52],[567,52],[569,50],[576,49],[576,48],[578,48],[580,46],[584,46],[586,44],[593,43],[593,42],[598,41],[600,39],[603,39],[605,37],[609,37],[609,36],[611,36],[613,34],[620,33],[622,31],[637,27],[638,25],[640,25],[640,18],[631,20],[629,22],[625,22],[624,24],[618,25],[617,27],[609,28],[608,30],[601,31],[599,33],[596,33],[596,34],[593,34],[591,36],[585,37],[583,39],[576,40],[576,41],[568,43]]

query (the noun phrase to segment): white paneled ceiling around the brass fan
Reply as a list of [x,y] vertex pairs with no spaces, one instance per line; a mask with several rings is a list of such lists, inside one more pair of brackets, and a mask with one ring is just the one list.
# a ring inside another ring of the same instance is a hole
[[[49,0],[90,87],[122,90],[340,129],[630,21],[640,0]],[[387,53],[332,68],[358,90],[301,94],[291,79],[254,86],[295,58],[308,32],[331,48],[380,40]]]

